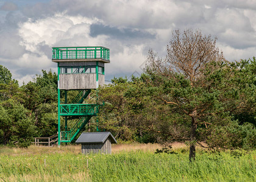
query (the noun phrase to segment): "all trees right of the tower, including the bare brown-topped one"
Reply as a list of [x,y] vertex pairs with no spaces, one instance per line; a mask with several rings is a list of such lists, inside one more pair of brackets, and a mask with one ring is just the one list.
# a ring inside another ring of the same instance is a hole
[[229,62],[216,39],[174,31],[166,58],[149,50],[144,73],[101,87],[100,126],[123,140],[204,142],[210,149],[255,149],[255,58]]

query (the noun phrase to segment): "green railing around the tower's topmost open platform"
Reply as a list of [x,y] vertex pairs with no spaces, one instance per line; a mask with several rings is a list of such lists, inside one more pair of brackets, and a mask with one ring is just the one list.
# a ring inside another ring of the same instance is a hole
[[52,47],[52,59],[105,59],[110,51],[105,47]]

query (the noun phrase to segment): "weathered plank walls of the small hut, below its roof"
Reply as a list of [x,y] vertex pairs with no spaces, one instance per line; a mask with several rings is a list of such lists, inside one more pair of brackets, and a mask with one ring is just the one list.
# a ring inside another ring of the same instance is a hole
[[111,141],[107,139],[103,144],[82,144],[82,153],[111,153]]

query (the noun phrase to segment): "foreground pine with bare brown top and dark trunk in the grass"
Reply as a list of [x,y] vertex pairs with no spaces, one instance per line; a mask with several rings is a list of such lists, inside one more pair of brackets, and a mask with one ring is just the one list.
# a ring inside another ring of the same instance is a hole
[[228,121],[226,112],[244,107],[241,99],[246,102],[249,95],[242,90],[248,87],[237,89],[241,83],[236,69],[219,52],[216,38],[200,30],[174,30],[165,59],[149,50],[145,72],[151,77],[148,85],[154,90],[153,98],[169,104],[170,112],[190,118],[190,160],[195,158],[199,128],[220,126]]

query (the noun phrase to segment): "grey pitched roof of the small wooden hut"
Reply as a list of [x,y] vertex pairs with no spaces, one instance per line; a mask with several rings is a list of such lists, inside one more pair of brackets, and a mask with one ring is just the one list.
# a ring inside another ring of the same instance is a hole
[[76,143],[104,143],[107,138],[109,138],[111,143],[117,143],[117,141],[110,132],[84,132],[79,136],[79,138],[77,138]]

